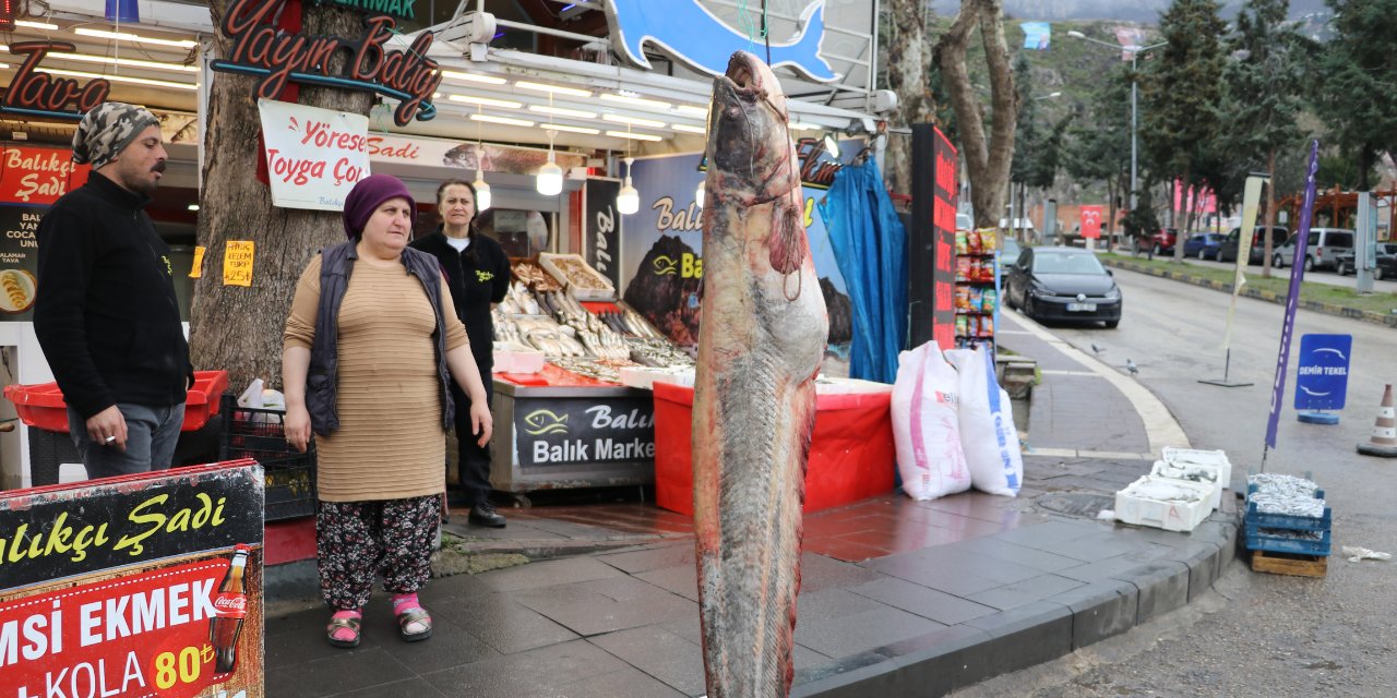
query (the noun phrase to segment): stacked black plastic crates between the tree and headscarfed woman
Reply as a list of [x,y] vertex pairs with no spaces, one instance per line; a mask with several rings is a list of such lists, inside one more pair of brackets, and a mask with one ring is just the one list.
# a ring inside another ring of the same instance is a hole
[[265,470],[265,521],[316,515],[316,443],[302,454],[286,443],[286,413],[277,409],[240,408],[224,395],[226,416],[219,459],[251,458]]

